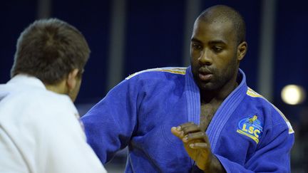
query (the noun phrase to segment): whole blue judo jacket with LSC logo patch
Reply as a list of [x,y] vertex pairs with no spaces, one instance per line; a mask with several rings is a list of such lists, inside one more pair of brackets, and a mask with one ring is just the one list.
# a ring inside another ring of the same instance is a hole
[[[207,136],[227,172],[290,172],[294,131],[262,95],[239,85],[215,112]],[[155,68],[130,75],[81,120],[101,162],[128,146],[125,172],[191,172],[194,162],[170,132],[200,123],[200,92],[188,68]]]

